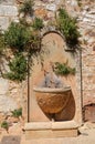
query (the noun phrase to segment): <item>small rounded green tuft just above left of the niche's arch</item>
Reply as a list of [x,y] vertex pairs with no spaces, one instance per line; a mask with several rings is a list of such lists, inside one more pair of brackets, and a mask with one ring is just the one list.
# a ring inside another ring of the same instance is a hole
[[40,18],[35,18],[32,27],[34,30],[41,30],[43,28],[43,21]]

